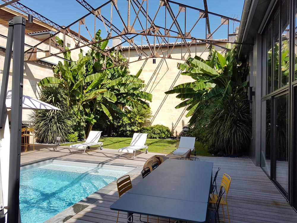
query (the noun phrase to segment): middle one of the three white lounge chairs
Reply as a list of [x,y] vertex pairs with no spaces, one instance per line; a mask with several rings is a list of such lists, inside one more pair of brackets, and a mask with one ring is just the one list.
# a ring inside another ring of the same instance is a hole
[[118,152],[120,153],[120,157],[122,153],[134,153],[133,158],[135,158],[136,150],[145,149],[146,153],[149,151],[147,150],[148,146],[146,145],[146,137],[148,136],[147,133],[134,133],[132,141],[129,146],[120,148]]

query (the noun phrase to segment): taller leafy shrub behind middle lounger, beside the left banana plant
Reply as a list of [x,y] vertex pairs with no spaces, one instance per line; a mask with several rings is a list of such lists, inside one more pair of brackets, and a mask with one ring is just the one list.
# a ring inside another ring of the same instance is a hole
[[134,109],[125,109],[125,114],[118,114],[114,120],[113,136],[132,137],[135,132],[139,132],[140,127],[147,125],[151,119],[151,110],[144,109],[143,106],[136,106]]

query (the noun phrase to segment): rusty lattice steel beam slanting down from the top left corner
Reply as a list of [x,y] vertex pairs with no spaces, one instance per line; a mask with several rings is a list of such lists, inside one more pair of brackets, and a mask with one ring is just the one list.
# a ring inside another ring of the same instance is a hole
[[[2,0],[2,1],[5,1],[7,3],[9,2],[9,0]],[[40,15],[38,12],[35,12],[34,10],[26,7],[25,5],[23,5],[19,2],[13,2],[10,5],[15,7],[16,9],[20,10],[21,12],[24,12],[27,15],[32,15],[35,19],[37,19],[43,23],[46,23],[47,25],[53,27],[54,29],[56,29],[58,31],[60,29],[63,29],[63,27],[59,26],[57,23],[49,20],[48,18],[45,18],[44,16]]]

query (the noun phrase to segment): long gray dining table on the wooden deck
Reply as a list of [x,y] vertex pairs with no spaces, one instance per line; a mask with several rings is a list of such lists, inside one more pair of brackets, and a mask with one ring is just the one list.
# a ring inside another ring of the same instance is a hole
[[110,205],[111,210],[205,222],[213,163],[167,159]]

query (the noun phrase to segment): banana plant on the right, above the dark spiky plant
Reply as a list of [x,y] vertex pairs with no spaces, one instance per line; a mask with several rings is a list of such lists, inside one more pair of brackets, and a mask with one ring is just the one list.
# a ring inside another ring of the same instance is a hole
[[[230,45],[227,45],[230,48]],[[182,102],[175,108],[187,107],[186,117],[193,124],[208,103],[222,96],[240,94],[247,85],[245,67],[236,60],[236,47],[222,55],[210,49],[207,60],[199,56],[189,57],[185,63],[178,63],[182,75],[192,77],[195,81],[179,84],[165,94],[178,94]]]

